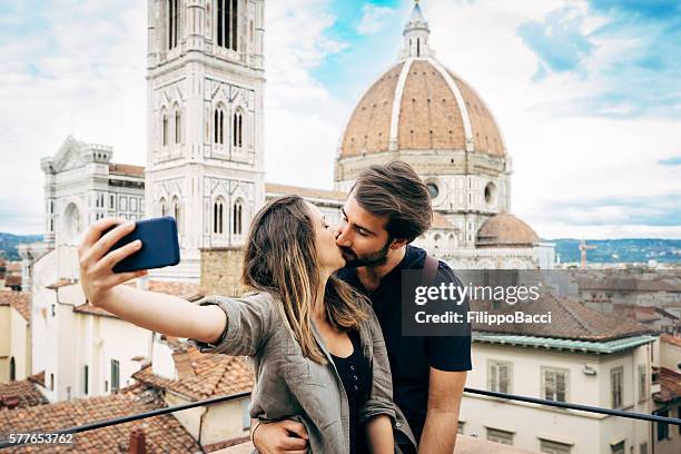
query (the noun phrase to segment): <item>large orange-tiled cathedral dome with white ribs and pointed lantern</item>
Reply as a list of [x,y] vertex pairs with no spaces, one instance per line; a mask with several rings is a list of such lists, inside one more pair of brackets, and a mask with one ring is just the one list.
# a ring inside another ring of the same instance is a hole
[[485,102],[435,59],[418,4],[404,38],[399,61],[355,107],[338,158],[398,150],[467,150],[504,157],[502,135]]

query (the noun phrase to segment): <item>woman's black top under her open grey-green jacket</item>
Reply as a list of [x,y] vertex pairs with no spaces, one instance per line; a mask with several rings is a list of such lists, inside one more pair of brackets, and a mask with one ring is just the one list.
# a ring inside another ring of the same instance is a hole
[[352,330],[348,337],[353,343],[353,353],[342,358],[332,354],[349,405],[351,454],[366,452],[364,431],[359,430],[358,411],[368,399],[372,391],[372,371],[366,356],[362,353],[359,332]]

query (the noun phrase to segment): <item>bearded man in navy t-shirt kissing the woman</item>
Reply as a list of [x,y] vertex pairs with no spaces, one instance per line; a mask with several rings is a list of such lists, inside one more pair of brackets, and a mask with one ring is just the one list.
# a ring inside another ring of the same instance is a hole
[[[338,276],[373,304],[391,362],[394,401],[409,423],[420,453],[451,454],[466,371],[472,368],[470,332],[451,336],[402,332],[404,272],[422,270],[426,261],[426,251],[409,243],[431,225],[428,190],[405,162],[372,166],[351,190],[343,215],[336,243],[347,264]],[[450,283],[462,285],[440,261],[436,278],[428,285]],[[461,310],[467,310],[467,300]],[[264,454],[303,453],[305,438],[302,425],[280,422],[261,424],[254,444]],[[402,442],[408,445],[407,440]]]

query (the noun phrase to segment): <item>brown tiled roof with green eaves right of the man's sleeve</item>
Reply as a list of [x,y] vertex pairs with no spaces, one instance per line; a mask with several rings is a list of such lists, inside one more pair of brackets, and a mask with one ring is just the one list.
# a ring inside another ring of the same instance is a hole
[[551,293],[541,295],[536,302],[519,302],[515,305],[501,303],[497,309],[493,308],[490,302],[471,300],[471,309],[510,315],[513,315],[516,310],[522,310],[525,314],[546,314],[551,312],[550,324],[487,325],[473,323],[473,330],[484,333],[604,342],[652,332],[638,322],[625,317],[603,315],[569,297],[555,297]]

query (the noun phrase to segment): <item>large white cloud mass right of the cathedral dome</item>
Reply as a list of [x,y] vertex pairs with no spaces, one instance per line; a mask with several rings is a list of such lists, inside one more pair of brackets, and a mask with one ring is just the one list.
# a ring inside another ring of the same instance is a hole
[[[570,4],[585,12],[581,3]],[[426,9],[438,59],[481,93],[502,129],[513,158],[512,211],[543,237],[681,238],[681,227],[618,225],[626,218],[608,210],[572,211],[575,223],[570,225],[551,221],[552,213],[562,219],[562,210],[579,200],[681,194],[679,170],[658,165],[681,150],[678,122],[578,117],[575,100],[601,92],[604,80],[560,73],[532,81],[537,57],[516,29],[564,4],[433,0]],[[585,23],[593,29],[602,21],[589,18]],[[590,73],[626,58],[626,49],[635,45],[604,38],[596,43],[588,61]],[[593,224],[583,225],[584,219]]]

